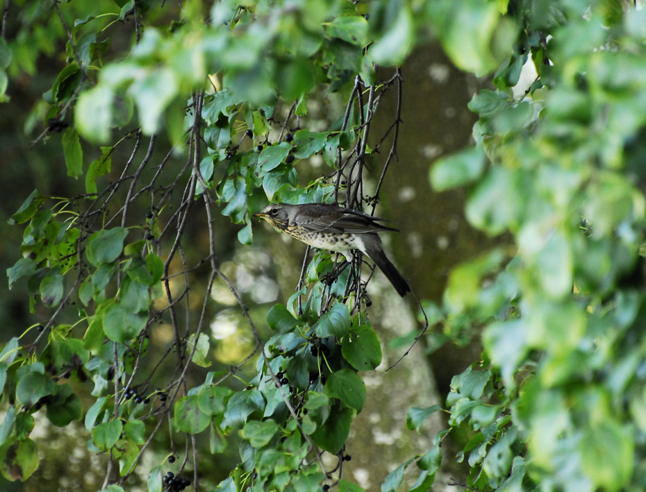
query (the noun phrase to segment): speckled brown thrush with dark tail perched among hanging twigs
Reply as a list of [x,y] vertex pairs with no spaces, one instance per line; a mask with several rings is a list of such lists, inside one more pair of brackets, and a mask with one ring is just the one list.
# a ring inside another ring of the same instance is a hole
[[276,229],[305,244],[341,253],[349,262],[352,260],[350,251],[358,249],[379,266],[397,294],[404,297],[411,291],[404,275],[383,252],[378,232],[399,232],[378,223],[387,219],[331,203],[277,203],[267,205],[252,215],[265,219]]

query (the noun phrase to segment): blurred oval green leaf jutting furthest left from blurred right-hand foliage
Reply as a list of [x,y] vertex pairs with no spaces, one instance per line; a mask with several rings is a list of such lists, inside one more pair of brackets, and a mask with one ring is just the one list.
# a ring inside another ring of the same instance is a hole
[[480,147],[438,159],[431,167],[431,185],[438,192],[472,183],[484,171],[486,158]]

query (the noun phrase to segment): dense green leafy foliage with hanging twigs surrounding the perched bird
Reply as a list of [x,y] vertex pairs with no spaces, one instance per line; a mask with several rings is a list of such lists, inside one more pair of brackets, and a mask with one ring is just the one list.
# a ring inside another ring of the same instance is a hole
[[[411,491],[428,490],[458,429],[469,433],[458,461],[472,490],[643,490],[646,11],[618,0],[166,3],[16,1],[3,24],[3,100],[15,103],[7,81],[38,74],[39,56],[58,58],[33,108],[47,125],[35,143],[62,131],[67,174],[84,178],[76,196],[34,191],[12,218],[24,241],[9,285],[26,287],[47,321],[0,353],[3,476],[26,480],[38,466],[30,433],[44,410],[60,427],[85,419],[90,450],[110,457],[110,491],[123,490],[165,418],[185,436],[179,471],[194,482],[204,455],[235,437],[238,465],[218,490],[359,490],[320,451],[340,468],[365,404],[358,372],[381,363],[361,262],[335,280],[330,255],[316,255],[301,290],[258,326],[222,272],[213,217],[242,224],[238,239],[251,244],[251,213],[267,201],[374,210],[365,159],[387,141],[390,162],[397,138],[370,135],[370,122],[399,87],[374,64],[399,65],[436,37],[492,89],[470,103],[476,146],[437,162],[431,183],[469,187],[467,218],[506,246],[454,269],[433,306],[447,338],[481,330],[483,360],[454,378],[447,430],[382,490],[413,464]],[[528,62],[536,80],[514,93]],[[315,131],[308,110],[323,92],[343,108]],[[397,133],[399,114],[392,121]],[[326,169],[299,187],[317,153]],[[183,251],[194,222],[208,230],[206,257]],[[222,279],[255,341],[230,368],[207,334]],[[172,331],[165,345],[159,323]],[[189,378],[211,364],[206,380]],[[411,432],[439,409],[411,409]],[[149,490],[179,490],[163,466]]]

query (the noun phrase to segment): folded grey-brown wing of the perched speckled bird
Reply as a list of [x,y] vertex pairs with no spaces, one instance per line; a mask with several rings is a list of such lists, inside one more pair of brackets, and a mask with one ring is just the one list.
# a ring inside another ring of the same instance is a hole
[[369,234],[370,232],[381,232],[384,230],[397,230],[376,221],[385,220],[379,217],[351,210],[349,208],[336,207],[309,207],[308,213],[299,213],[298,223],[300,226],[313,232],[345,232],[348,234]]

